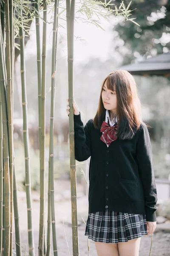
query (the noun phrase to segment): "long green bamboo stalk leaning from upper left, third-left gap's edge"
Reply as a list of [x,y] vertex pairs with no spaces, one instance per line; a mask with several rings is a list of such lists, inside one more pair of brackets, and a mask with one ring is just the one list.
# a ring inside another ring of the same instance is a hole
[[[22,17],[22,11],[21,11]],[[34,233],[32,224],[32,202],[31,202],[31,177],[30,177],[30,155],[28,139],[28,114],[27,114],[27,96],[26,96],[26,68],[25,68],[25,49],[24,49],[24,31],[23,23],[20,25],[20,71],[22,84],[22,106],[23,106],[23,143],[25,152],[25,171],[26,171],[26,200],[28,216],[28,246],[29,255],[34,256]]]

